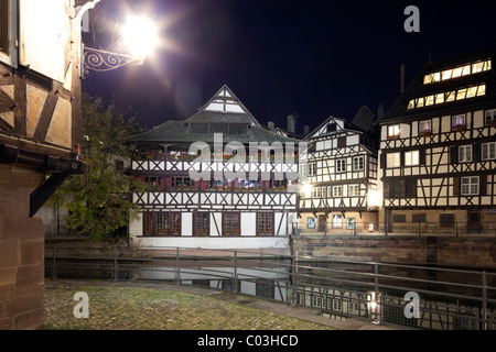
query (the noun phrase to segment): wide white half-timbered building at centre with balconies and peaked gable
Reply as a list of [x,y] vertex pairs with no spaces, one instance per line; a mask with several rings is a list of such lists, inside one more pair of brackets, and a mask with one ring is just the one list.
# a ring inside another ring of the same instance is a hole
[[137,143],[132,174],[148,190],[133,195],[141,207],[130,224],[134,245],[289,248],[298,141],[260,125],[227,86],[191,118]]

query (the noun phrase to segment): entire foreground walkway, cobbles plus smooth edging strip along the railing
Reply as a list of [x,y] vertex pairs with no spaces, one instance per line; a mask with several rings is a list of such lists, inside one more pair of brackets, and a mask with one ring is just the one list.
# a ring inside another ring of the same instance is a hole
[[[86,292],[89,319],[74,318]],[[45,282],[46,329],[89,330],[398,330],[368,320],[334,320],[316,310],[196,286],[147,282]]]

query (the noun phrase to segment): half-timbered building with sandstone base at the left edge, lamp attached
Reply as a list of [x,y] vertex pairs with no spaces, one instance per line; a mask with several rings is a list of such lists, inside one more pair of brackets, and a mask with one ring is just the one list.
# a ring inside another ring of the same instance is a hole
[[[88,6],[87,6],[88,4]],[[0,329],[42,329],[37,209],[72,173],[80,120],[80,21],[93,1],[0,1]]]

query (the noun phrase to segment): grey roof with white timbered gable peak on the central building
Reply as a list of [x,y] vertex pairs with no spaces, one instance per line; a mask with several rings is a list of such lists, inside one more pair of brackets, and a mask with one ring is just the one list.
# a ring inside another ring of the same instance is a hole
[[249,142],[298,142],[298,140],[277,134],[262,128],[226,85],[191,118],[184,121],[168,121],[134,136],[134,140],[147,143],[193,143],[196,141],[214,143],[213,133],[190,133],[190,124],[207,123],[248,125],[248,134],[223,135],[224,143],[233,141],[244,144],[248,144]]

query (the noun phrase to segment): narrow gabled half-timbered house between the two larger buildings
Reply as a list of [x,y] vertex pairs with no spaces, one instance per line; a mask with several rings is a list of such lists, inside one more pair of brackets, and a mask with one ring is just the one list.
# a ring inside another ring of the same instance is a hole
[[301,233],[343,233],[376,226],[375,120],[376,114],[363,107],[352,122],[330,117],[304,139],[309,153],[300,161]]

